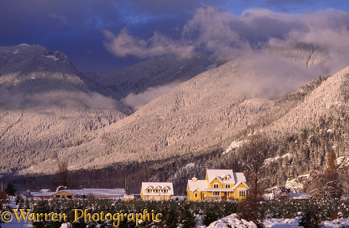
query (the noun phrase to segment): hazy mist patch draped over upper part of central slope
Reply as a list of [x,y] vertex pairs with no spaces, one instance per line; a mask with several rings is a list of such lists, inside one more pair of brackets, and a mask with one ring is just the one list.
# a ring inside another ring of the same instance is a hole
[[230,77],[228,83],[232,94],[250,97],[283,97],[309,82],[314,75],[321,75],[316,67],[308,68],[268,50],[253,53],[248,63],[241,65],[244,66],[242,75]]

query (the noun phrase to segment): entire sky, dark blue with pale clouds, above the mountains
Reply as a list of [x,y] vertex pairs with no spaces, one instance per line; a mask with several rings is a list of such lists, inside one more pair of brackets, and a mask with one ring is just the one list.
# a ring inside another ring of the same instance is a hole
[[[311,30],[316,27],[311,17],[327,18],[325,26],[349,27],[348,11],[347,0],[1,1],[0,46],[28,43],[59,50],[82,71],[109,71],[192,51],[228,60],[246,46],[285,39],[295,27]],[[227,27],[218,30],[218,22]],[[222,51],[222,43],[236,53]]]

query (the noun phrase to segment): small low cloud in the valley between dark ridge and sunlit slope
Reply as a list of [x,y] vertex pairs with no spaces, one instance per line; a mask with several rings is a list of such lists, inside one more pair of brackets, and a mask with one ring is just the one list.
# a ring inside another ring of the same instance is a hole
[[166,85],[157,88],[148,88],[146,91],[138,95],[130,93],[126,97],[122,98],[121,102],[130,107],[133,107],[134,109],[138,109],[154,100],[155,98],[167,93],[173,87],[174,85]]

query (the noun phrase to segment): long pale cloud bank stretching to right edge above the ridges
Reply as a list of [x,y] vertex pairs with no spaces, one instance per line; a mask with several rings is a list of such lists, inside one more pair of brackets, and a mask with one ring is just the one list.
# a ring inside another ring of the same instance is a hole
[[[149,58],[166,54],[188,56],[194,51],[208,52],[229,61],[255,50],[313,44],[331,52],[336,68],[349,64],[343,56],[349,53],[349,13],[334,9],[308,14],[276,13],[267,9],[248,9],[241,15],[216,7],[196,9],[182,29],[180,39],[157,32],[138,39],[123,29],[115,36],[105,31],[106,47],[117,56],[134,55]],[[332,72],[332,70],[329,70]]]

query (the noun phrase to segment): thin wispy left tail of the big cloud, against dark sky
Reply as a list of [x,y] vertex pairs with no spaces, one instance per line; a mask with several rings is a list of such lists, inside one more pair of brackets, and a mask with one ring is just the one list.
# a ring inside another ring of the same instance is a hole
[[166,54],[174,54],[181,57],[190,56],[194,47],[192,45],[183,44],[180,41],[172,40],[159,33],[148,40],[136,39],[129,35],[126,29],[123,29],[118,36],[110,31],[104,31],[107,49],[117,56],[134,55],[139,58],[151,58]]

